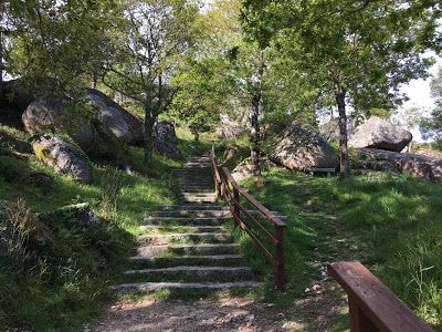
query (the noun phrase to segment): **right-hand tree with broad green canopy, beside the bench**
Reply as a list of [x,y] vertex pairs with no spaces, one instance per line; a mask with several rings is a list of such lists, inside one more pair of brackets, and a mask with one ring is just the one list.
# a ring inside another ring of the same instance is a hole
[[330,94],[339,113],[340,174],[350,174],[347,112],[391,108],[398,86],[428,75],[422,53],[438,45],[439,1],[243,1],[243,22],[261,46],[275,43],[306,89]]

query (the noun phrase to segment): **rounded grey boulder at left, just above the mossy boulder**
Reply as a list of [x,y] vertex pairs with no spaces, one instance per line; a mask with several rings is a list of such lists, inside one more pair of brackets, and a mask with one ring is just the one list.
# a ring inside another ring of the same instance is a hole
[[49,128],[64,129],[83,148],[94,142],[94,132],[88,123],[76,123],[59,102],[45,97],[33,101],[22,116],[24,128],[32,135],[44,134]]

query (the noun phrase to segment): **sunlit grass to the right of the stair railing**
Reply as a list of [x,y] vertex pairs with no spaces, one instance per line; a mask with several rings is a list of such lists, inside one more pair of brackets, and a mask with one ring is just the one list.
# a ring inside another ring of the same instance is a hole
[[360,260],[442,331],[440,185],[390,174],[339,180],[274,168],[264,176],[264,187],[251,179],[244,186],[265,206],[288,217],[284,243],[288,289],[274,291],[272,266],[244,234],[234,231],[267,278],[256,295],[288,305],[306,297],[304,290],[320,279],[322,263]]

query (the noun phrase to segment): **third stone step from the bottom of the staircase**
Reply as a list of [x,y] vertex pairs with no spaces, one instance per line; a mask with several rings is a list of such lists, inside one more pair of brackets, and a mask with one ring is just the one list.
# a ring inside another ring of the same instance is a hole
[[167,268],[176,266],[221,266],[239,267],[245,264],[242,255],[177,256],[177,257],[130,257],[130,266],[137,268]]

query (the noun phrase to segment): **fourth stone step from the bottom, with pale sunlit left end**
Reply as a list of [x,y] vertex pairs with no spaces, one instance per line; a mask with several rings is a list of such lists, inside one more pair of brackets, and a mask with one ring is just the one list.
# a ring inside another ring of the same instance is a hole
[[168,255],[189,256],[189,255],[236,255],[240,249],[239,243],[204,243],[204,245],[164,245],[138,247],[135,256],[143,257],[164,257]]

